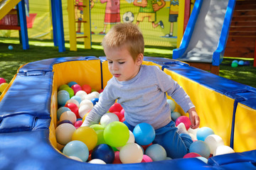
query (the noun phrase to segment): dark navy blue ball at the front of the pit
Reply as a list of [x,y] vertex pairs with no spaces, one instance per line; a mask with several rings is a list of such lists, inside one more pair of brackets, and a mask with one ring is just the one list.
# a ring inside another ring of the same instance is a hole
[[100,144],[92,150],[91,157],[92,159],[101,159],[107,164],[112,164],[114,161],[114,150],[107,144]]

